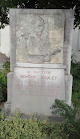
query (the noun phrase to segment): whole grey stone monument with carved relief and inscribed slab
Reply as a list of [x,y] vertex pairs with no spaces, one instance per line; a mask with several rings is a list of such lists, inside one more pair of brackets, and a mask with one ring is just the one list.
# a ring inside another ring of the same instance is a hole
[[10,73],[4,110],[52,116],[55,99],[71,106],[73,11],[10,9]]

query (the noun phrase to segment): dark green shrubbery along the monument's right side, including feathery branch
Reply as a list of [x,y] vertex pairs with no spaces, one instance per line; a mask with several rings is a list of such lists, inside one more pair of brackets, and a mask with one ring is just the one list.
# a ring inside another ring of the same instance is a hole
[[[64,133],[70,139],[80,138],[80,62],[75,60],[75,54],[71,60],[71,74],[73,76],[72,102],[74,109],[65,104],[63,100],[55,100],[52,105],[52,114],[59,113],[65,119]],[[78,115],[78,116],[77,116]]]

